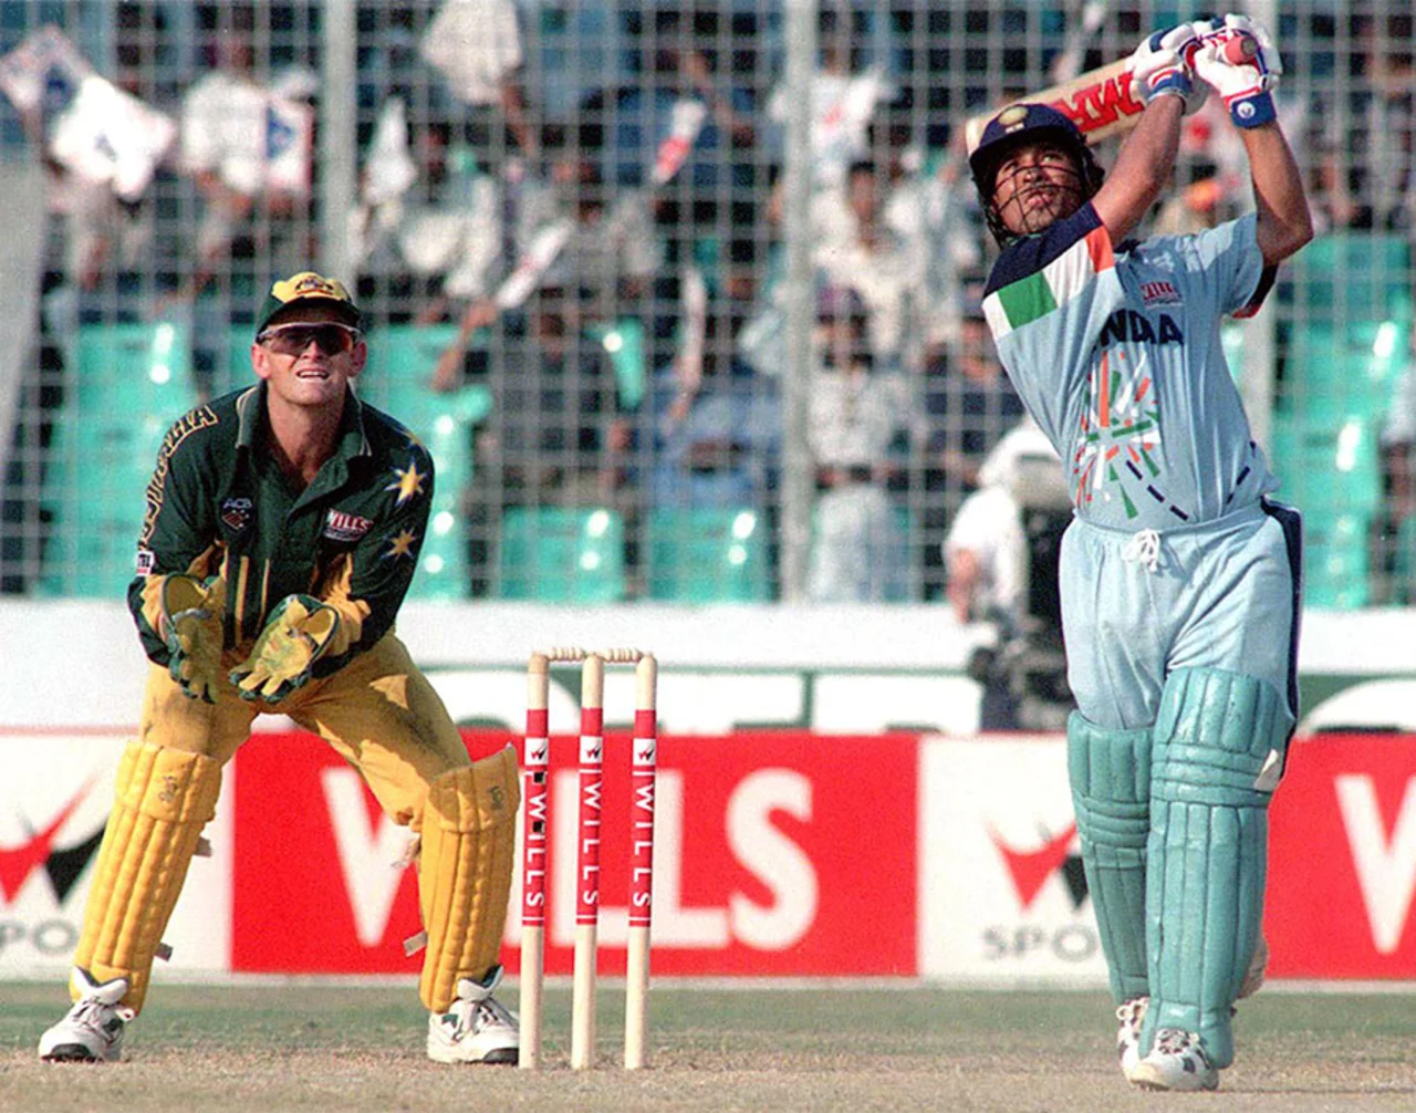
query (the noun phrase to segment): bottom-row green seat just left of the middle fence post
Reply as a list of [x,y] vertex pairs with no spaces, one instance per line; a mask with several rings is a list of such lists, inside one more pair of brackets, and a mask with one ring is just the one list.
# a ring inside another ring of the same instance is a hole
[[766,520],[753,510],[653,510],[649,598],[756,603],[772,598]]

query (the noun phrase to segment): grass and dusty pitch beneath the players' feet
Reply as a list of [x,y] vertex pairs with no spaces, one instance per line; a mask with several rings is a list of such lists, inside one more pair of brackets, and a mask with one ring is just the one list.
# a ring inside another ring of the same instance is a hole
[[[504,1000],[515,1004],[515,987]],[[0,1110],[1416,1110],[1416,998],[1245,1001],[1219,1095],[1130,1089],[1099,993],[685,988],[650,1001],[651,1066],[613,1069],[623,994],[602,986],[595,1072],[566,1066],[569,991],[547,993],[538,1073],[423,1058],[409,986],[159,986],[127,1062],[48,1065],[62,988],[0,984]]]

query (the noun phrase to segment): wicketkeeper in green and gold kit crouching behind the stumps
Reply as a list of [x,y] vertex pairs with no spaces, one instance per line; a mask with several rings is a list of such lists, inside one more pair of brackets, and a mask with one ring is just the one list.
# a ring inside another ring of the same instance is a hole
[[[515,758],[470,760],[395,634],[433,464],[355,396],[367,357],[364,314],[343,283],[313,272],[276,282],[256,314],[255,384],[191,411],[163,442],[127,592],[152,663],[140,726],[118,765],[74,1007],[40,1039],[42,1059],[122,1058],[222,769],[256,715],[283,714],[416,834],[429,1058],[517,1061],[515,1018],[493,997]],[[279,823],[279,784],[268,799]]]

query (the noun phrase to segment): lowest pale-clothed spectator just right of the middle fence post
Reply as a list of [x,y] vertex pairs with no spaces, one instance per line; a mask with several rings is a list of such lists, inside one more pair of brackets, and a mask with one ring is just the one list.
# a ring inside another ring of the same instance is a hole
[[807,442],[817,504],[807,595],[814,602],[899,602],[908,534],[888,484],[910,411],[905,377],[877,367],[869,312],[850,287],[817,300],[820,364],[811,377]]

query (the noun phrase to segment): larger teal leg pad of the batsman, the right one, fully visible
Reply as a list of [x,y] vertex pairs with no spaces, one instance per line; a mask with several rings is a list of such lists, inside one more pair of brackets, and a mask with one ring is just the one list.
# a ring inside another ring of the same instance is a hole
[[1198,1032],[1215,1066],[1233,1062],[1231,1007],[1263,919],[1269,800],[1291,731],[1272,684],[1211,668],[1165,683],[1151,770],[1146,906],[1151,1004],[1160,1028]]

